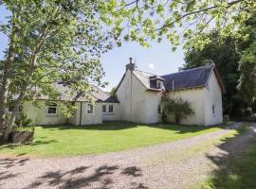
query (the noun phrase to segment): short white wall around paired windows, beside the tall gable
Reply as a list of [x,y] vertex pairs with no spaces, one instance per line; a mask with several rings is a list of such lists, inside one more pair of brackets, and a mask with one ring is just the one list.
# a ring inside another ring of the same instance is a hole
[[[120,111],[119,111],[119,103],[99,103],[102,106],[106,106],[106,112],[102,112],[102,120],[103,121],[118,121],[120,120]],[[113,106],[113,112],[108,112],[109,106]]]

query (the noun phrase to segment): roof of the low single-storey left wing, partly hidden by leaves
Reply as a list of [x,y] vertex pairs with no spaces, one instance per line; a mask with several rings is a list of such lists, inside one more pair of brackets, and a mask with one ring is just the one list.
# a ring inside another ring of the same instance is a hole
[[[74,92],[73,90],[71,90],[67,86],[64,86],[61,83],[55,83],[54,87],[56,91],[60,93],[60,100],[77,102],[88,101],[88,97],[86,96],[86,94],[82,92]],[[96,102],[119,103],[119,100],[116,97],[103,92],[100,88],[96,86],[92,86],[92,91],[88,92],[88,94],[95,97]],[[36,99],[49,99],[49,97],[39,93],[36,96]]]

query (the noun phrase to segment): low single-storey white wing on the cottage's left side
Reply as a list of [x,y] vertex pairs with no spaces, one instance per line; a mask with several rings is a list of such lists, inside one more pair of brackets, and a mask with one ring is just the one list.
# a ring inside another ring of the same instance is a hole
[[[55,88],[61,96],[58,103],[46,103],[49,98],[37,94],[33,101],[24,101],[19,113],[26,114],[36,125],[72,124],[75,126],[101,124],[102,121],[119,120],[119,101],[97,87],[88,94],[72,92],[63,84]],[[88,100],[90,98],[90,101]],[[62,112],[62,103],[71,102],[76,110],[67,119]],[[35,105],[36,104],[36,105]],[[9,107],[8,112],[12,111]]]

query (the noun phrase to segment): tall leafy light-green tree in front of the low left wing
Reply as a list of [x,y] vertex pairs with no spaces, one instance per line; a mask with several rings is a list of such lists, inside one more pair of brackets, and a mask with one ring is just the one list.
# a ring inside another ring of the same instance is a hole
[[[6,126],[8,137],[25,98],[32,99],[40,91],[58,99],[53,83],[60,81],[76,91],[88,91],[89,83],[101,84],[101,53],[112,48],[119,34],[101,28],[101,20],[94,18],[97,4],[5,1],[5,5],[12,14],[2,26],[9,49],[3,61],[0,126]],[[14,109],[5,123],[8,98]]]

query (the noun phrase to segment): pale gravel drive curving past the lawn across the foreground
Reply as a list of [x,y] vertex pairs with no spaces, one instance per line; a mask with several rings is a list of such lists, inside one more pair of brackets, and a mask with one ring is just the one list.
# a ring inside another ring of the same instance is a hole
[[0,188],[184,188],[206,179],[219,160],[243,148],[252,130],[218,146],[231,129],[101,155],[2,158]]

